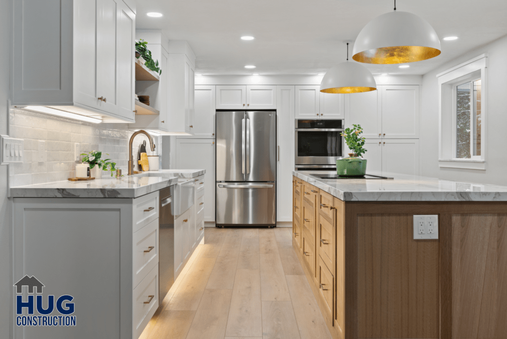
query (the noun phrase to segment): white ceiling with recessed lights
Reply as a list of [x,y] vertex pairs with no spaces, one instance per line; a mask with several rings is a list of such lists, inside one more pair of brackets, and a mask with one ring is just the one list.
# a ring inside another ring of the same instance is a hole
[[[368,21],[392,9],[392,0],[137,0],[136,28],[187,40],[197,74],[315,75],[345,61],[342,42],[355,40]],[[440,38],[459,39],[441,40],[441,55],[408,69],[368,65],[374,74],[425,74],[507,34],[505,0],[398,0],[396,9],[426,19]],[[240,40],[243,35],[256,39]],[[257,68],[247,70],[247,64]]]

